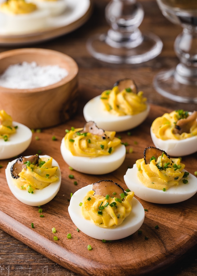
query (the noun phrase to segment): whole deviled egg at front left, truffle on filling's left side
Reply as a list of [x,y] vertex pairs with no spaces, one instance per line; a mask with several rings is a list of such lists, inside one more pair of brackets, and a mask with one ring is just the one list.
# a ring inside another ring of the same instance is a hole
[[52,157],[32,155],[9,162],[6,179],[12,194],[19,201],[40,206],[51,201],[58,193],[61,171]]

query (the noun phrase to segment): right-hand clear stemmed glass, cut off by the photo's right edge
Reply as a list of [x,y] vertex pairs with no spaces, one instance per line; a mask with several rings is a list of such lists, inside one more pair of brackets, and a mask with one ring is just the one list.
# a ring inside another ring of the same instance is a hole
[[163,15],[183,27],[174,43],[179,58],[175,68],[159,72],[156,91],[176,102],[197,103],[197,0],[157,0]]

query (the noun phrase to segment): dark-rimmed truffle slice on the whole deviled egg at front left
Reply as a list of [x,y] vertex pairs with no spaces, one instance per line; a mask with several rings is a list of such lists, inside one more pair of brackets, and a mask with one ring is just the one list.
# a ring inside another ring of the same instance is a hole
[[10,168],[10,172],[13,178],[19,178],[19,173],[23,168],[26,168],[26,162],[29,161],[31,164],[38,164],[39,156],[32,155],[30,157],[21,156],[17,159],[17,161]]

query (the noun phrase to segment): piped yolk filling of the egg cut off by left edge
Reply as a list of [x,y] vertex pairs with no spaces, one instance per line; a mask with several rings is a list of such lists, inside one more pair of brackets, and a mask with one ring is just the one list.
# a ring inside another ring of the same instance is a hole
[[0,110],[0,139],[8,140],[11,134],[16,132],[16,128],[12,126],[12,117],[5,110]]

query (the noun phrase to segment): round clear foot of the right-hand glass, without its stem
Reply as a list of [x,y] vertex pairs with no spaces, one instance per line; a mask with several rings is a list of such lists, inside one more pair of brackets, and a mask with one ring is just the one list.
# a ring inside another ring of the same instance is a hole
[[153,80],[155,90],[172,101],[197,104],[197,85],[180,83],[175,75],[176,68],[159,72]]

